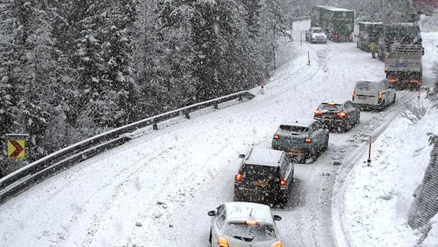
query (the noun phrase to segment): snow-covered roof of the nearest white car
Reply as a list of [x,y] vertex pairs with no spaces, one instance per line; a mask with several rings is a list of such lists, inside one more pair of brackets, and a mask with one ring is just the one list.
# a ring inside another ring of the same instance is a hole
[[270,207],[261,203],[229,202],[224,203],[228,221],[256,220],[260,223],[273,223]]

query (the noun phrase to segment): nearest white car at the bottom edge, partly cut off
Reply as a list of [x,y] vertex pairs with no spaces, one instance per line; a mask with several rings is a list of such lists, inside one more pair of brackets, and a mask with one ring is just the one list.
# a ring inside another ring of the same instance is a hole
[[273,215],[268,205],[249,202],[223,203],[211,216],[209,242],[213,247],[282,247]]

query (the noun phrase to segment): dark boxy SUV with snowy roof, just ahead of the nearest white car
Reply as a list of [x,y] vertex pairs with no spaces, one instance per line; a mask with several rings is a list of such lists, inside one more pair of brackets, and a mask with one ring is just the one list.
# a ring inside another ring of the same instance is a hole
[[252,148],[243,158],[234,179],[234,201],[284,206],[293,182],[293,162],[284,153]]

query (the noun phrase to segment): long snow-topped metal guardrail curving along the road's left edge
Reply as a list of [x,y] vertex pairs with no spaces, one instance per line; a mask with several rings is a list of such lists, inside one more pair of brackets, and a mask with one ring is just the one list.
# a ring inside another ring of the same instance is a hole
[[153,126],[154,130],[156,130],[158,129],[157,123],[161,121],[179,116],[190,118],[190,112],[195,112],[202,108],[208,108],[211,106],[217,109],[220,103],[232,101],[234,99],[243,101],[243,98],[252,99],[254,96],[254,94],[248,91],[242,91],[211,99],[209,101],[195,103],[184,108],[165,112],[154,117],[149,117],[147,119],[136,121],[135,123],[130,123],[126,126],[109,130],[106,133],[90,137],[73,144],[72,146],[67,146],[66,148],[42,157],[40,160],[36,160],[35,162],[26,165],[26,167],[22,167],[21,169],[0,178],[0,205],[8,201],[9,198],[17,196],[33,185],[54,176],[60,171],[74,166],[74,164],[78,164],[94,155],[103,153],[109,148],[124,144],[131,139],[131,137],[126,135],[128,133],[132,133],[135,130],[147,126]]

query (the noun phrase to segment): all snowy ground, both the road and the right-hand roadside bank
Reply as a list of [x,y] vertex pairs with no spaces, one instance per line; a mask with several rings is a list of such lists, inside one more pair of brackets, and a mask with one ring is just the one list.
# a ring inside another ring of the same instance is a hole
[[[239,153],[268,148],[279,123],[312,117],[321,101],[350,99],[356,80],[384,76],[382,62],[355,43],[301,43],[308,26],[294,24],[265,94],[145,128],[1,205],[0,246],[208,246],[206,212],[232,200]],[[423,35],[425,83],[437,37]],[[296,165],[291,200],[274,209],[284,246],[415,246],[421,235],[407,226],[407,210],[429,162],[425,133],[438,133],[437,110],[415,125],[398,117],[416,96],[398,92],[389,109],[362,112],[350,132],[330,135],[316,162]],[[424,246],[437,246],[434,222]]]

